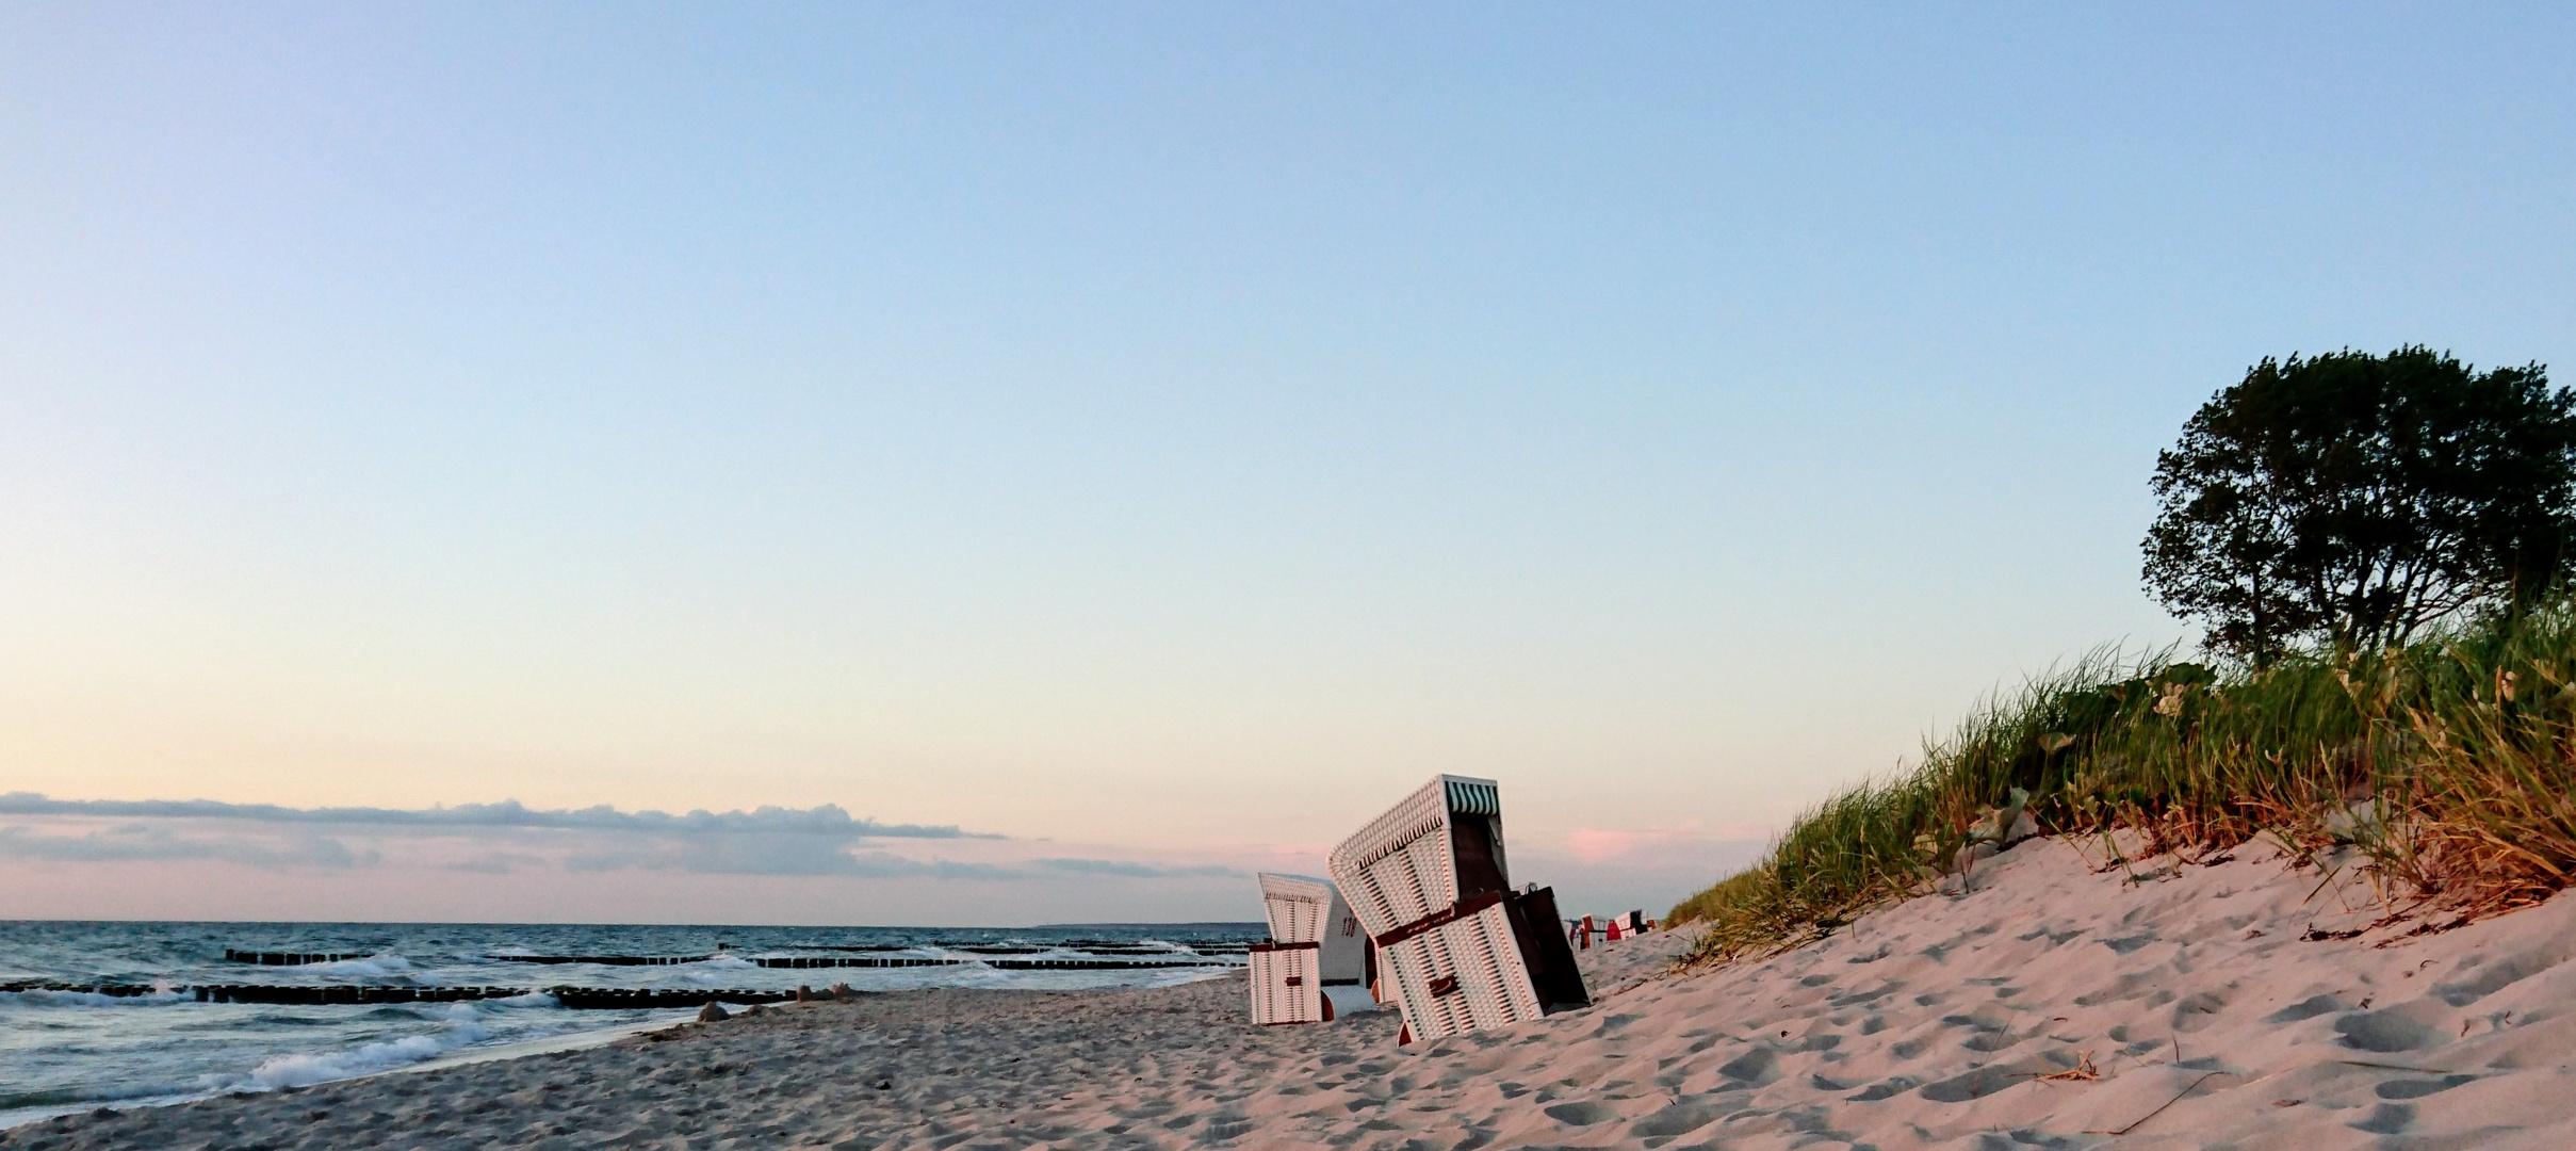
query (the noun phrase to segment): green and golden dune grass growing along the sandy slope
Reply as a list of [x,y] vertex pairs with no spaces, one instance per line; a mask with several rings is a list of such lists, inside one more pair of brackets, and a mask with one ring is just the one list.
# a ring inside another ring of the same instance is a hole
[[2014,798],[2043,832],[2130,832],[2146,855],[2254,834],[2342,850],[2393,901],[2458,922],[2545,899],[2576,881],[2576,610],[2262,669],[2094,651],[1806,811],[1669,919],[1705,924],[1703,963],[1803,945],[1924,894]]

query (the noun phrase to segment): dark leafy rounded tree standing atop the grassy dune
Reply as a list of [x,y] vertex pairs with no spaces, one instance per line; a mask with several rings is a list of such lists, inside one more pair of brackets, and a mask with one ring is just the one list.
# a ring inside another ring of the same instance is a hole
[[2156,456],[2146,585],[2264,662],[2517,610],[2576,561],[2576,391],[2424,345],[2262,360]]

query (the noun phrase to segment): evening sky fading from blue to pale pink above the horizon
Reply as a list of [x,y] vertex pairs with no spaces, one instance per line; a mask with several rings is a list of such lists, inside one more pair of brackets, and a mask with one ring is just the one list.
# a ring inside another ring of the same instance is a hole
[[1435,772],[1659,912],[2190,644],[2146,479],[2254,360],[2576,373],[2571,54],[0,8],[0,917],[1249,919]]

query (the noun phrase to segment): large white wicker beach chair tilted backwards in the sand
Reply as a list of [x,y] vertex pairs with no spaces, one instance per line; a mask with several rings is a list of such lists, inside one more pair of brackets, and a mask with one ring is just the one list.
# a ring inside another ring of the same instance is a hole
[[1535,883],[1512,891],[1494,780],[1435,775],[1342,839],[1327,865],[1378,945],[1404,1040],[1592,1002],[1558,932],[1556,894]]

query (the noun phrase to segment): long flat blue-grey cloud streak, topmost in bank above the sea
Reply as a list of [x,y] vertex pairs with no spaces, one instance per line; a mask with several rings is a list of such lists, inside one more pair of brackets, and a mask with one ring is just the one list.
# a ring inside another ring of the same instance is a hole
[[840,839],[999,839],[961,832],[953,824],[878,824],[850,819],[837,803],[814,809],[762,806],[752,811],[618,811],[608,803],[541,811],[515,798],[500,803],[456,803],[433,809],[289,809],[276,803],[222,803],[211,798],[46,798],[33,791],[0,793],[0,816],[106,816],[106,819],[242,819],[255,824],[343,824],[343,827],[425,827],[479,829],[523,827],[562,832],[649,832],[649,834],[817,834]]

